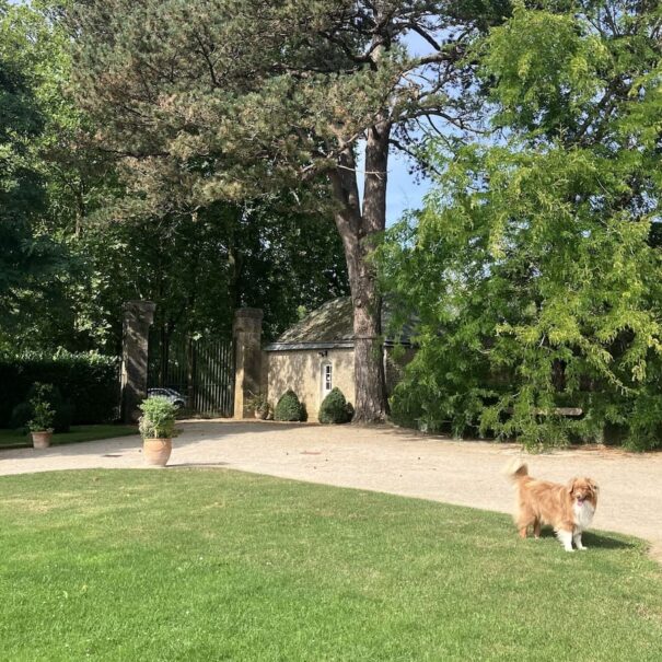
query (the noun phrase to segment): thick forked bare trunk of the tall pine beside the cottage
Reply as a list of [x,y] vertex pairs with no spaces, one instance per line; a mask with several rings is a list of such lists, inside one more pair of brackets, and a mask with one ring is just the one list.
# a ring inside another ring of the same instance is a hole
[[368,260],[376,233],[386,227],[386,166],[390,125],[368,130],[363,209],[359,202],[356,160],[346,149],[332,173],[339,202],[336,225],[342,239],[353,307],[355,421],[383,421],[387,413],[382,348],[382,302]]

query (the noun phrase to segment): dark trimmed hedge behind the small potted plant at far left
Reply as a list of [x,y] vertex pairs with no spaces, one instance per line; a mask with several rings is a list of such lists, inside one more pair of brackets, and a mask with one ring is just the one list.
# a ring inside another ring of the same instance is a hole
[[119,411],[118,359],[97,353],[0,356],[0,428],[35,382],[53,384],[72,406],[73,425],[112,421]]

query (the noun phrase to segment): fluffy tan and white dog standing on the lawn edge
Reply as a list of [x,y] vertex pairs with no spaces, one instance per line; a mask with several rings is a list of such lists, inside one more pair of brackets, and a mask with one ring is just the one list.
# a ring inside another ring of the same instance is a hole
[[593,521],[597,507],[597,485],[591,478],[572,478],[567,485],[537,480],[529,475],[529,467],[521,460],[507,469],[518,492],[514,521],[520,537],[525,538],[530,526],[533,535],[541,537],[543,525],[551,525],[566,551],[586,549],[581,534]]

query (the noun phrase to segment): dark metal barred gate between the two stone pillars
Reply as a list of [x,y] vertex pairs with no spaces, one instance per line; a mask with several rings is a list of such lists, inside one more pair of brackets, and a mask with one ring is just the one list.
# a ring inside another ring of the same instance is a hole
[[231,417],[234,409],[234,347],[224,338],[150,334],[148,388],[173,388],[191,414]]

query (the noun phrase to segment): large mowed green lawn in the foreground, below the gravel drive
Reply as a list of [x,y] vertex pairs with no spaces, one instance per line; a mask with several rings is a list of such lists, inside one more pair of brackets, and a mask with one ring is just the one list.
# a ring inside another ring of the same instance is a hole
[[222,469],[0,479],[3,660],[660,660],[641,542]]

